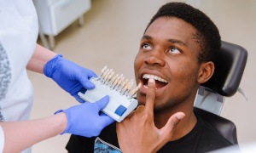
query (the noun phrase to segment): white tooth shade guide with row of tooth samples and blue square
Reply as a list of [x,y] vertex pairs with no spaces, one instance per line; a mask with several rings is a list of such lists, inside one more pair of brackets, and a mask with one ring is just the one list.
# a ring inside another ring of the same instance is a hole
[[131,95],[133,80],[126,79],[125,82],[124,80],[123,74],[114,75],[113,69],[109,70],[105,66],[100,77],[90,78],[90,82],[93,82],[96,88],[87,90],[85,93],[81,93],[81,91],[79,96],[81,99],[93,103],[103,96],[109,95],[109,103],[102,111],[117,122],[121,122],[138,105],[137,99],[133,99],[132,96],[136,94],[139,85],[132,90],[133,95]]

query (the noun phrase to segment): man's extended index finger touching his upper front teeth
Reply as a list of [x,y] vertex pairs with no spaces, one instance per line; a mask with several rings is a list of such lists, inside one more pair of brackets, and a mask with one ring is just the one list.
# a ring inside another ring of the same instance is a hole
[[154,111],[154,100],[155,100],[155,82],[153,78],[148,79],[148,91],[146,95],[146,104],[145,104],[145,110],[148,113],[152,113]]

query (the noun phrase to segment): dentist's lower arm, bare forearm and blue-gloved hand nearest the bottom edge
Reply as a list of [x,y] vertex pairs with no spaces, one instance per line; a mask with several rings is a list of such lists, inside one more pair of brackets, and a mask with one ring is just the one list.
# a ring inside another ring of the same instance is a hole
[[100,115],[108,101],[109,97],[106,96],[95,103],[74,105],[67,110],[57,111],[54,116],[38,120],[0,122],[4,134],[3,152],[20,152],[60,133],[97,136],[113,122],[111,117]]

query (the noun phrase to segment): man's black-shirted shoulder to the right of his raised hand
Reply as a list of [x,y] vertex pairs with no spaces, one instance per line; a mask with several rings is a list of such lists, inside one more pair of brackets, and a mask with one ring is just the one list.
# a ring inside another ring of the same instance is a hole
[[195,127],[183,138],[170,141],[164,145],[159,152],[208,152],[218,150],[231,143],[224,139],[214,127],[197,117]]

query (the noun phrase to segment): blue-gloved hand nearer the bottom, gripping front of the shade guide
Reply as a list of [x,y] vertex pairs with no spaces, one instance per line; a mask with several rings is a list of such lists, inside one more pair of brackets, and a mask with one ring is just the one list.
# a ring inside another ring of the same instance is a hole
[[[114,120],[110,116],[102,113],[103,108],[108,105],[109,96],[105,96],[95,103],[84,103],[68,108],[65,112],[67,115],[67,127],[63,133],[72,133],[84,137],[97,136],[102,132],[104,127],[107,127]],[[61,134],[63,134],[61,133]]]

